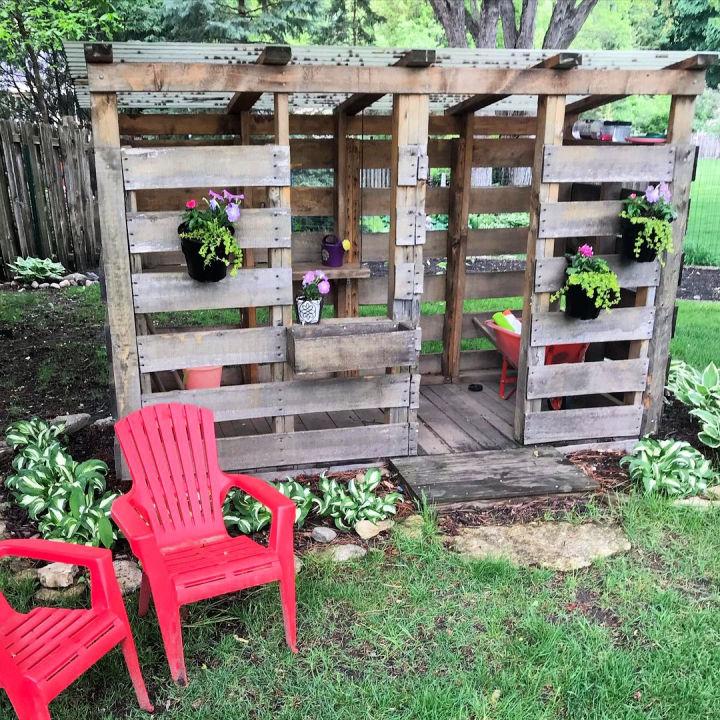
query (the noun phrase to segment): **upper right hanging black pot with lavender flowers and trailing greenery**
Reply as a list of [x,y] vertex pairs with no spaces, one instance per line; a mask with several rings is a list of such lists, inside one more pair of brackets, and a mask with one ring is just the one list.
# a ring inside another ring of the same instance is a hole
[[654,260],[672,252],[672,221],[677,212],[671,204],[667,183],[648,185],[643,194],[631,193],[623,200],[623,240],[626,254],[635,260]]

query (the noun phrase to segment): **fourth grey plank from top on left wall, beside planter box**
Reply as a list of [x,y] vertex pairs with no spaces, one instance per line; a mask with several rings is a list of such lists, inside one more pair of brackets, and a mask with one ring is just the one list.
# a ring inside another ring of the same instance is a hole
[[138,337],[140,371],[284,362],[285,328],[168,332]]

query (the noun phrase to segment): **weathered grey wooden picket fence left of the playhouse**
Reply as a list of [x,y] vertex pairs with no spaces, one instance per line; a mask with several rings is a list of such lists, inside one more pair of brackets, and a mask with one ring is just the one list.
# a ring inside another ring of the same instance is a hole
[[97,266],[93,148],[88,130],[0,120],[0,278],[18,256]]

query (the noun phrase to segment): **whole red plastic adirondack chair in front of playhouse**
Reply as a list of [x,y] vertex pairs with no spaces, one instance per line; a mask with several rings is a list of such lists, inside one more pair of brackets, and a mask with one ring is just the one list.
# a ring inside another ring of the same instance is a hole
[[[267,483],[220,470],[210,410],[171,403],[137,410],[115,425],[132,476],[112,516],[143,567],[140,615],[150,593],[170,672],[185,684],[180,607],[278,580],[288,645],[295,628],[294,503]],[[237,487],[272,512],[267,547],[230,537],[222,505]]]

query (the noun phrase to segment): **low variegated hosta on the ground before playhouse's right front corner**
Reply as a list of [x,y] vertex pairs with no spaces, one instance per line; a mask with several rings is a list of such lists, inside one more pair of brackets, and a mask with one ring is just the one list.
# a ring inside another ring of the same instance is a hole
[[620,460],[646,494],[697,495],[716,479],[710,461],[690,443],[645,437]]

